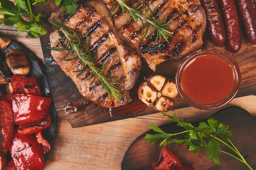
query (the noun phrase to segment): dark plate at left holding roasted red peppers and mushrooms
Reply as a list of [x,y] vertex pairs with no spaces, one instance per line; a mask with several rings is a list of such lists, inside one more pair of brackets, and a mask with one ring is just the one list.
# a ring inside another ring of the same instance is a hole
[[[43,96],[52,97],[45,65],[38,59],[38,57],[34,53],[32,53],[29,49],[27,49],[27,47],[13,40],[11,41],[9,46],[7,46],[6,49],[0,51],[0,55],[5,56],[6,52],[11,49],[20,49],[27,55],[27,58],[31,66],[31,70],[28,76],[36,75],[36,79],[42,90]],[[56,114],[56,109],[53,103],[49,108],[49,114],[51,115],[51,118],[52,118],[52,124],[47,129],[43,130],[42,133],[45,139],[49,141],[49,143],[53,148],[54,142],[56,139],[56,134],[57,134],[57,114]],[[48,159],[49,155],[50,155],[50,152],[47,152],[44,155],[45,161]]]

